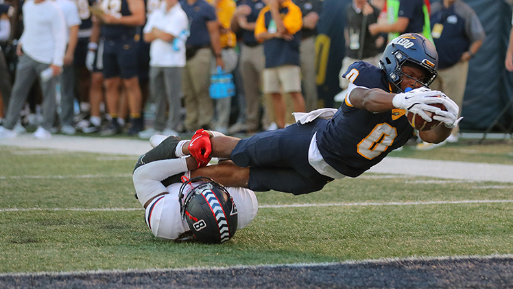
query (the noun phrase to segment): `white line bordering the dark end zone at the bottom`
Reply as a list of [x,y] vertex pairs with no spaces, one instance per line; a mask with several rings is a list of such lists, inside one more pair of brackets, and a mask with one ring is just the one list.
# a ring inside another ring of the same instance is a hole
[[150,268],[150,269],[128,269],[128,270],[78,270],[67,272],[25,272],[25,273],[0,273],[0,277],[37,277],[37,276],[85,276],[85,275],[112,275],[112,274],[128,274],[128,273],[167,273],[167,272],[187,272],[187,271],[205,271],[205,270],[232,270],[232,269],[259,269],[259,268],[301,268],[301,267],[322,267],[335,265],[379,265],[389,264],[392,262],[412,262],[412,261],[458,261],[458,260],[487,260],[487,259],[513,259],[513,254],[492,254],[492,255],[455,255],[455,256],[439,256],[424,257],[412,256],[405,258],[379,258],[379,259],[363,259],[363,260],[347,260],[343,262],[322,262],[322,263],[292,263],[292,264],[259,264],[259,265],[235,265],[235,266],[205,266],[205,267],[186,267],[186,268]]

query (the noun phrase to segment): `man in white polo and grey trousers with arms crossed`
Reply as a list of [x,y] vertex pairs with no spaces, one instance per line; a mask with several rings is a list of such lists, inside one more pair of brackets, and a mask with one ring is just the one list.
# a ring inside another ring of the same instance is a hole
[[[155,124],[139,132],[139,137],[178,135],[182,70],[185,66],[185,41],[189,20],[178,0],[165,0],[154,10],[144,27],[144,41],[150,46],[150,97],[156,104]],[[166,124],[166,107],[169,117]]]

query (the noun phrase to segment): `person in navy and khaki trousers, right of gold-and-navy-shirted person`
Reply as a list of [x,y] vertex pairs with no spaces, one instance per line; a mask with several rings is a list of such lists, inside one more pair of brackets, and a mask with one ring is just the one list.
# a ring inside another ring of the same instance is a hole
[[305,97],[306,111],[317,109],[317,73],[315,72],[315,37],[317,23],[322,10],[320,0],[293,0],[301,9],[303,25],[299,58],[302,79],[302,95]]

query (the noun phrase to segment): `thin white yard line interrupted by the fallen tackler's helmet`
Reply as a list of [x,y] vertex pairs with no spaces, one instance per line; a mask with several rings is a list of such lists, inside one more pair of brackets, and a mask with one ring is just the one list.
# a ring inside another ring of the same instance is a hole
[[[488,203],[513,203],[513,200],[431,200],[425,202],[387,202],[387,203],[327,203],[327,204],[290,204],[290,205],[259,205],[259,209],[267,208],[297,208],[297,207],[353,207],[353,206],[403,206],[403,205],[455,205],[455,204],[488,204]],[[143,208],[6,208],[2,211],[139,211]]]

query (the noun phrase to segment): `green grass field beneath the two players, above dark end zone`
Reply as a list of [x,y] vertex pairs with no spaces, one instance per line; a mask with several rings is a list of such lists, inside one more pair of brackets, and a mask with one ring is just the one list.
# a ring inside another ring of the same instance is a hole
[[[460,144],[431,152],[406,148],[394,154],[447,159],[442,157],[444,151],[456,150],[451,153],[456,161],[490,162],[493,154],[502,155],[497,157],[501,159],[511,150],[492,146],[496,147],[479,147],[471,157],[457,151],[477,148]],[[130,177],[136,157],[19,154],[26,151],[0,147],[0,209],[43,210],[0,211],[0,273],[513,253],[513,203],[261,208],[257,218],[225,244],[163,242],[147,229],[142,209],[45,210],[139,208]],[[257,198],[260,205],[512,200],[512,188],[482,188],[512,183],[411,182],[433,179],[346,178],[329,183],[322,192],[304,196],[261,192]]]

